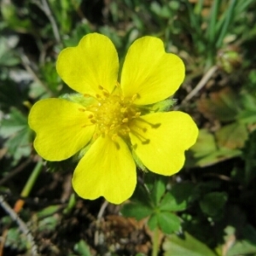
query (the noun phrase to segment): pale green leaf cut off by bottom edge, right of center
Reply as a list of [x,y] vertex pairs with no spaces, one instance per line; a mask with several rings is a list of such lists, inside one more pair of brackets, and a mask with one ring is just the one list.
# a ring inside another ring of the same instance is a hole
[[164,256],[217,256],[204,243],[185,232],[183,237],[175,234],[163,243]]

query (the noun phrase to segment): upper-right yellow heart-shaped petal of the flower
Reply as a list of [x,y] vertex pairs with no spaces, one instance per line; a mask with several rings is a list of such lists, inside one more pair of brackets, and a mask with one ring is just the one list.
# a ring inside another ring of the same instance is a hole
[[121,75],[124,96],[138,95],[135,104],[147,105],[172,96],[184,79],[183,61],[166,53],[158,38],[144,37],[131,44]]

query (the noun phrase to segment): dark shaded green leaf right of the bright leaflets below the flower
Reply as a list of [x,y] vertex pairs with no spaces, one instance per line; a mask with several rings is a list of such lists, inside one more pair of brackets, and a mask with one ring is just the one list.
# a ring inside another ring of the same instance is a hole
[[224,192],[208,193],[199,202],[201,211],[210,217],[219,217],[223,213],[228,196]]

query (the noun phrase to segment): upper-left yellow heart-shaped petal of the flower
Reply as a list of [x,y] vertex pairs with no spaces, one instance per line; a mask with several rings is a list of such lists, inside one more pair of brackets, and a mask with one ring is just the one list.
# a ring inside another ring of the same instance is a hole
[[111,40],[91,33],[76,47],[63,49],[58,56],[57,72],[73,90],[96,96],[102,86],[112,92],[118,76],[119,59]]

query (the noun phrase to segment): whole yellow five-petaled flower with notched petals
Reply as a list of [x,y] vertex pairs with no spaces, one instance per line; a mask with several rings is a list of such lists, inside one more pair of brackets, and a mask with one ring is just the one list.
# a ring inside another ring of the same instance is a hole
[[73,174],[84,199],[104,196],[119,204],[137,183],[133,151],[149,171],[178,172],[184,151],[198,136],[195,122],[179,111],[156,112],[183,82],[183,61],[166,53],[158,38],[137,39],[128,50],[118,83],[119,59],[109,38],[92,33],[57,60],[61,79],[81,95],[76,102],[44,99],[29,114],[34,147],[45,160],[66,160],[89,148]]

